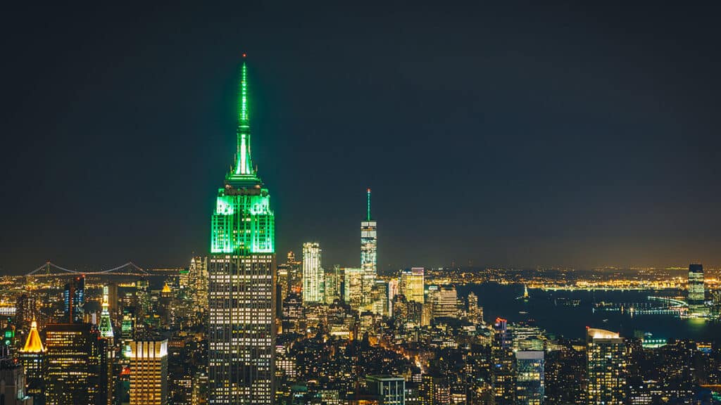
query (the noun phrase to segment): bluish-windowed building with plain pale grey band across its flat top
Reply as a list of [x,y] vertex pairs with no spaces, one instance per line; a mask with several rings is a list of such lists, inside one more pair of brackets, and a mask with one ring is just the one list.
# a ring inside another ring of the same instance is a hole
[[541,405],[544,401],[544,352],[516,352],[516,404]]

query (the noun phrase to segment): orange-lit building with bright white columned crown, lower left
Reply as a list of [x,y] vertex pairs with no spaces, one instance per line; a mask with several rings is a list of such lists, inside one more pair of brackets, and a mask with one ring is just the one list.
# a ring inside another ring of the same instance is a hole
[[168,341],[131,342],[131,405],[167,405]]

